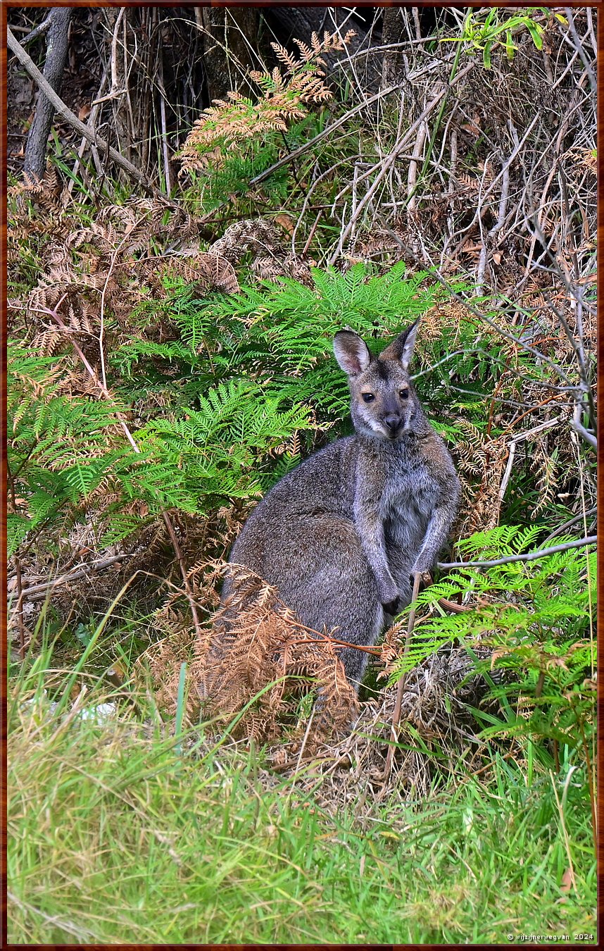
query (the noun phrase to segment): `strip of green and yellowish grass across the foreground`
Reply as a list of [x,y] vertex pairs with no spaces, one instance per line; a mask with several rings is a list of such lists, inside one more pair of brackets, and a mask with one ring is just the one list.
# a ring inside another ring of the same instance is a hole
[[[320,777],[304,792],[259,753],[198,732],[179,752],[182,736],[166,736],[150,709],[145,724],[129,708],[102,725],[69,719],[67,705],[53,713],[45,658],[34,668],[9,701],[11,942],[595,935],[579,769],[566,786],[556,779],[559,808],[552,776],[528,786],[497,757],[478,776],[453,764],[423,802],[395,789],[363,803],[360,787],[328,811]],[[83,706],[102,699],[93,685]]]

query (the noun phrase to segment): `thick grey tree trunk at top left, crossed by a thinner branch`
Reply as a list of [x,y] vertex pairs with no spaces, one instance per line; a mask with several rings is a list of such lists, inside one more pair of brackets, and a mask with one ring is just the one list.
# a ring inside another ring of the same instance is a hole
[[[61,93],[61,82],[65,68],[69,23],[71,9],[69,7],[55,7],[48,14],[47,29],[47,59],[44,67],[44,77],[48,85],[57,94]],[[47,161],[47,141],[54,106],[43,92],[38,96],[33,122],[29,127],[28,142],[26,145],[24,171],[34,179],[41,179]]]

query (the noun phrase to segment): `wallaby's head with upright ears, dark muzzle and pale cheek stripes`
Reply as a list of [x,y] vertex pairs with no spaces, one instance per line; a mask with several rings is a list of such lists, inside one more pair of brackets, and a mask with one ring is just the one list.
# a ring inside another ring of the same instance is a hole
[[394,441],[410,432],[422,412],[408,372],[418,324],[407,327],[379,357],[352,330],[340,330],[333,339],[335,359],[349,378],[352,422],[363,436]]

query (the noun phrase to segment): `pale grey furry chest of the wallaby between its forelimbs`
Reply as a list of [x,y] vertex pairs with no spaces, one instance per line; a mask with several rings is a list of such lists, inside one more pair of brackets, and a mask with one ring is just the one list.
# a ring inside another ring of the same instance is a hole
[[429,476],[417,472],[399,476],[395,485],[386,487],[382,516],[387,539],[419,544],[434,508],[435,489]]

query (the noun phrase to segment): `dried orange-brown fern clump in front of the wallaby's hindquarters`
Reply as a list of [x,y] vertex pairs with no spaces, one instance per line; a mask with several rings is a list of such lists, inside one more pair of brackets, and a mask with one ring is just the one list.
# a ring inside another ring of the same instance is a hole
[[[199,563],[190,578],[205,568]],[[318,700],[305,748],[349,728],[358,702],[337,646],[305,628],[262,578],[240,566],[229,572],[236,579],[233,593],[202,639],[195,641],[174,597],[157,614],[156,623],[168,633],[143,657],[160,707],[174,714],[180,664],[188,661],[189,716],[202,708],[204,716],[225,724],[238,717],[234,738],[280,739],[311,686]]]

